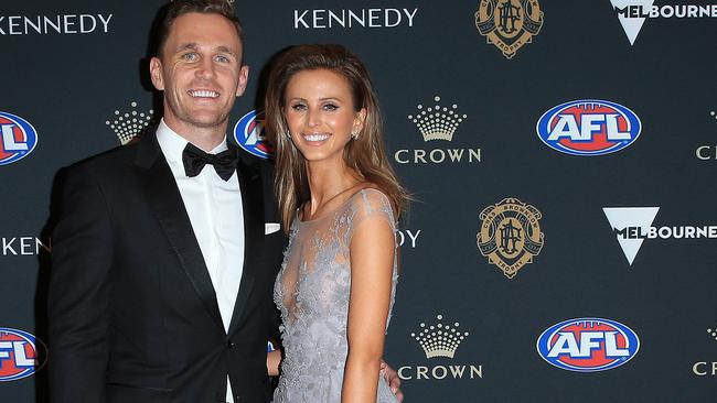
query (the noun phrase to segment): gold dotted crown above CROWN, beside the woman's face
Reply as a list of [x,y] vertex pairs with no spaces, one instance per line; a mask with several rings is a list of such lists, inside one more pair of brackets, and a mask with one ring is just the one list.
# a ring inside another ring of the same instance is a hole
[[463,122],[468,116],[458,113],[458,105],[453,104],[450,108],[440,106],[440,97],[434,98],[435,106],[417,107],[418,112],[408,116],[408,120],[416,123],[418,130],[424,135],[424,141],[431,140],[453,140],[456,129]]

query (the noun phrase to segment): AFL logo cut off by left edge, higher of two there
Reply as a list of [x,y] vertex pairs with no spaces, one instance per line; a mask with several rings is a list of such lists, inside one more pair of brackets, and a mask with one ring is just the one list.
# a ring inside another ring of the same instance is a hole
[[19,116],[0,112],[0,165],[22,160],[38,145],[35,128]]

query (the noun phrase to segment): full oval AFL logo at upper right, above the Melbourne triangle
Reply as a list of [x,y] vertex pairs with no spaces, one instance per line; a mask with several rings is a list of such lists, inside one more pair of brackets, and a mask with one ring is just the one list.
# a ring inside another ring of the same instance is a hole
[[536,131],[547,146],[572,155],[603,155],[628,148],[642,130],[640,118],[622,105],[582,99],[545,112]]

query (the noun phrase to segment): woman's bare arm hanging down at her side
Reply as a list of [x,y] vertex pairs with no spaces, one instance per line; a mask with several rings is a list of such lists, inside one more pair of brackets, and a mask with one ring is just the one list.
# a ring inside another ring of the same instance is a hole
[[395,253],[394,230],[386,217],[367,217],[351,240],[349,356],[342,403],[376,401],[381,357],[390,305]]

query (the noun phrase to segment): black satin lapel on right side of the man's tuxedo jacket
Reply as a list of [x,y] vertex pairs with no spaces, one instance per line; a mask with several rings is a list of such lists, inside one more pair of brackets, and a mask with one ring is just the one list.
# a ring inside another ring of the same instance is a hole
[[259,167],[256,163],[247,163],[239,157],[237,176],[244,210],[244,269],[229,324],[229,335],[236,331],[252,293],[264,239],[264,190]]

